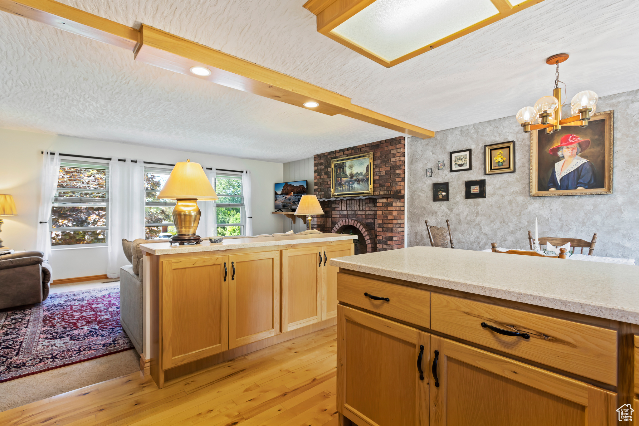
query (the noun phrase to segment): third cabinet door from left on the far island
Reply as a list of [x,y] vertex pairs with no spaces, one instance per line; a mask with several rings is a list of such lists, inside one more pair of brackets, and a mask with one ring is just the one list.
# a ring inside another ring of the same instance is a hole
[[282,250],[282,333],[321,318],[321,247]]

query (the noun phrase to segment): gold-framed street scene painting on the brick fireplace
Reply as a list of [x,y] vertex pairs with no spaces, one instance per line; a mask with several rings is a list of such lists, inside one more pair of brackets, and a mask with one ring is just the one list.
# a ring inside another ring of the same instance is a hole
[[373,153],[330,160],[330,196],[373,195]]

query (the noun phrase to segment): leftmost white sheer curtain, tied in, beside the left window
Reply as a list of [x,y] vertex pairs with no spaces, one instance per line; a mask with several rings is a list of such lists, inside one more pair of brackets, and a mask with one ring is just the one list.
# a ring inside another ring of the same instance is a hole
[[51,234],[49,221],[51,220],[51,208],[56,196],[58,186],[58,174],[60,172],[59,153],[44,151],[42,158],[42,181],[40,186],[40,209],[38,210],[38,234],[36,238],[36,250],[44,253],[44,259],[51,256]]

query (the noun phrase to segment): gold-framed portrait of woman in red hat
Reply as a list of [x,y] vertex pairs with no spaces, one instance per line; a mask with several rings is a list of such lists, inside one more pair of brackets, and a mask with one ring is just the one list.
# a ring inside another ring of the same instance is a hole
[[604,111],[586,127],[532,130],[530,196],[612,194],[613,121]]

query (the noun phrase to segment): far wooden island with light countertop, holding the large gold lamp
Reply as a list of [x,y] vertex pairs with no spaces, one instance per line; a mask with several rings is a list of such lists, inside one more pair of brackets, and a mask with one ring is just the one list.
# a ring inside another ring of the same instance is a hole
[[352,255],[354,238],[317,233],[140,245],[149,293],[148,359],[158,388],[334,325],[337,268],[328,261]]

